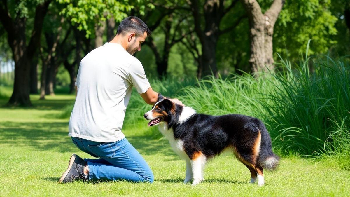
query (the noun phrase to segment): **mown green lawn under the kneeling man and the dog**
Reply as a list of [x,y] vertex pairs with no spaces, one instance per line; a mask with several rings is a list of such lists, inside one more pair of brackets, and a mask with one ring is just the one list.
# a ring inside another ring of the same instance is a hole
[[[68,120],[58,119],[73,95],[47,96],[33,108],[0,108],[0,195],[1,196],[348,196],[349,171],[320,162],[283,158],[279,171],[265,173],[265,185],[249,184],[250,172],[231,155],[211,161],[205,181],[184,185],[185,162],[144,126],[123,130],[154,172],[149,183],[103,182],[57,184],[69,157],[78,150],[68,136]],[[0,100],[3,105],[7,100]]]

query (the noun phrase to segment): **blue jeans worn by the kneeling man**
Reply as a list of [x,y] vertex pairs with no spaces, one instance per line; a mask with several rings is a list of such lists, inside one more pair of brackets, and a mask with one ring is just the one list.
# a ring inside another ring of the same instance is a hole
[[89,166],[89,180],[126,180],[153,183],[154,176],[145,159],[124,138],[117,142],[94,142],[72,137],[82,151],[100,159],[84,159]]

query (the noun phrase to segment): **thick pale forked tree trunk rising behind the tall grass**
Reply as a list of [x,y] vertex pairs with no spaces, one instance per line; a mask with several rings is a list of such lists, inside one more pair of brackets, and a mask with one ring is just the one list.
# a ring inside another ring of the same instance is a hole
[[252,71],[268,72],[274,68],[272,36],[273,27],[285,3],[284,0],[274,0],[271,7],[262,14],[256,0],[241,0],[250,26],[251,54],[249,63]]

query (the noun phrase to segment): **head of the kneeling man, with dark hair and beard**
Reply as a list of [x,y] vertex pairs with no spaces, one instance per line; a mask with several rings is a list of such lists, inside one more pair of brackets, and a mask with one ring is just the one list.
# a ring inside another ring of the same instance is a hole
[[138,17],[129,16],[120,22],[117,35],[123,37],[127,44],[126,51],[133,55],[141,50],[141,44],[145,42],[147,36],[151,35],[151,30]]

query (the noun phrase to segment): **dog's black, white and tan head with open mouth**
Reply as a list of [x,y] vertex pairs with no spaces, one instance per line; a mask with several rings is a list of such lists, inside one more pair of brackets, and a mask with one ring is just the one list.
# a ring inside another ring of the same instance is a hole
[[150,111],[144,114],[147,120],[151,120],[148,126],[154,126],[160,122],[168,123],[168,128],[172,127],[173,124],[179,120],[182,106],[179,106],[166,97],[158,94],[158,100]]

